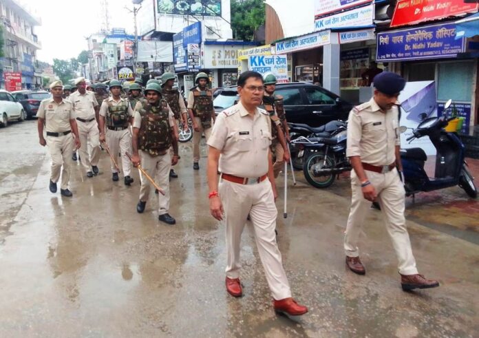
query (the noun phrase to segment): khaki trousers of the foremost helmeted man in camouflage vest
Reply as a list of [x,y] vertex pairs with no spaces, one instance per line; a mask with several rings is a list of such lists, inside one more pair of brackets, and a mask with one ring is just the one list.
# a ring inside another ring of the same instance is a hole
[[[164,190],[164,196],[158,193],[158,215],[168,213],[169,210],[169,171],[171,156],[169,151],[164,155],[151,156],[147,151],[139,150],[141,167],[155,180],[158,187]],[[151,183],[140,171],[140,201],[147,202]]]

